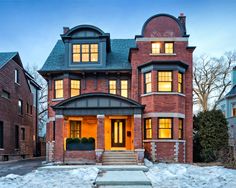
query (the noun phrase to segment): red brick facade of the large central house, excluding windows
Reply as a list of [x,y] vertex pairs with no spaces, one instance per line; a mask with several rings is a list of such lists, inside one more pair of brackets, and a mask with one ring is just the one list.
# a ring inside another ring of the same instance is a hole
[[[192,162],[192,53],[194,47],[188,46],[188,35],[185,30],[185,17],[181,15],[175,18],[170,15],[156,15],[151,17],[144,24],[142,35],[136,36],[136,48],[131,48],[129,52],[129,61],[131,70],[111,71],[94,73],[88,71],[78,71],[71,74],[79,75],[81,80],[80,94],[87,93],[108,93],[108,82],[115,79],[118,82],[117,95],[120,95],[119,81],[126,77],[129,82],[128,98],[144,106],[142,114],[133,114],[132,150],[142,151],[145,149],[146,157],[154,161],[175,161]],[[152,54],[152,43],[160,42],[163,47],[165,42],[173,42],[174,53]],[[152,91],[144,92],[144,73],[148,69],[152,75]],[[78,69],[79,70],[79,69]],[[172,91],[158,92],[158,71],[169,70],[172,72]],[[183,73],[183,92],[178,92],[178,73]],[[52,106],[70,98],[70,73],[63,72],[45,75],[49,81],[48,103],[49,103],[49,122],[47,124],[47,141],[53,140],[55,134],[55,160],[63,161],[70,156],[78,155],[78,158],[87,156],[93,158],[91,153],[63,151],[63,126],[64,121],[61,115],[55,115]],[[63,99],[54,99],[54,81],[63,79]],[[171,139],[159,139],[159,118],[172,118],[173,137]],[[144,119],[151,118],[152,138],[144,140]],[[183,119],[183,138],[179,139],[179,119]],[[55,131],[53,131],[53,121],[56,122]],[[97,114],[97,138],[96,149],[104,150],[105,132],[104,114]],[[55,133],[54,133],[55,132]],[[97,153],[96,153],[97,155]],[[64,156],[64,159],[63,159]],[[100,156],[100,155],[99,155]],[[98,157],[98,156],[97,156]],[[142,154],[138,157],[142,161]],[[99,160],[97,161],[99,162]]]

